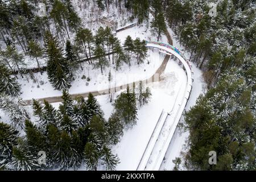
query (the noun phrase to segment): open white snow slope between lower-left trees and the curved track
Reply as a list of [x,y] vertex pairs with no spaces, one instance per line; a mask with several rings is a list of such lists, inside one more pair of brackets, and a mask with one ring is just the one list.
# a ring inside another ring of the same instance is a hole
[[169,60],[163,80],[159,84],[148,85],[152,92],[151,101],[138,110],[137,125],[125,131],[121,142],[113,146],[121,162],[117,170],[137,169],[162,110],[171,110],[184,82],[186,76],[183,69],[174,60]]

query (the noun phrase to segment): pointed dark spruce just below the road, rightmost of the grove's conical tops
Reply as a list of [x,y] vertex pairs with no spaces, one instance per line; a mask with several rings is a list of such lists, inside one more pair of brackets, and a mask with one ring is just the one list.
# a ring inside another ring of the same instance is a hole
[[88,110],[88,117],[89,120],[92,119],[93,115],[98,115],[99,117],[103,117],[104,113],[101,110],[100,104],[98,104],[98,101],[93,96],[92,93],[89,93],[88,99],[86,100],[86,106]]

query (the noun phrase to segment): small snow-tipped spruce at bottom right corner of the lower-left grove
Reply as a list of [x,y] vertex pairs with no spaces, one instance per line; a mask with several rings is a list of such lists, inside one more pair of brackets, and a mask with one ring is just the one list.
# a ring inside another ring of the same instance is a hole
[[102,147],[101,153],[101,159],[104,161],[106,169],[113,171],[115,169],[115,166],[117,166],[117,164],[119,163],[117,155],[112,154],[112,151],[107,146]]

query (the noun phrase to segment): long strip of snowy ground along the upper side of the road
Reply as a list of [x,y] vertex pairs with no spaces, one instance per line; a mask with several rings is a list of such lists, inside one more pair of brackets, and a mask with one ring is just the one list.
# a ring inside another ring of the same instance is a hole
[[[114,65],[111,65],[109,68],[104,70],[103,75],[101,74],[100,69],[93,69],[92,64],[89,65],[88,63],[83,63],[82,67],[84,67],[84,70],[82,71],[80,68],[77,70],[75,81],[72,82],[69,93],[75,94],[108,89],[109,71],[112,75],[112,81],[110,81],[111,87],[131,83],[133,81],[144,80],[154,75],[156,69],[159,68],[163,59],[164,55],[159,55],[158,51],[148,51],[148,57],[143,64],[138,65],[134,61],[130,68],[127,64],[123,64],[118,71],[115,71]],[[82,79],[83,75],[85,75],[86,78],[90,77],[90,81]],[[27,75],[27,77],[24,78],[19,77],[18,82],[22,84],[21,97],[23,100],[61,96],[61,91],[55,90],[48,81],[46,72],[44,72],[43,75],[40,75],[40,73],[35,73],[34,76],[35,80],[38,81],[32,80],[30,75]],[[27,81],[27,78],[29,82]],[[89,84],[86,85],[86,82]]]

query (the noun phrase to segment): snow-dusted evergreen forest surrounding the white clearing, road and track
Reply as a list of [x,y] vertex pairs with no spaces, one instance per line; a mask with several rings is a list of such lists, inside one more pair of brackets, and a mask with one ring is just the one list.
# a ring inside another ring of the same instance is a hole
[[[130,13],[127,19],[146,24],[159,40],[167,28],[190,53],[189,61],[203,72],[207,93],[184,113],[189,131],[187,151],[181,159],[189,170],[255,170],[256,127],[256,16],[253,0],[93,0],[101,14],[115,7]],[[46,7],[38,15],[39,3]],[[216,14],[209,14],[209,3]],[[149,14],[154,16],[149,21]],[[114,170],[119,163],[111,146],[123,129],[133,127],[141,107],[151,96],[127,87],[113,101],[109,119],[93,94],[72,99],[68,93],[74,73],[92,64],[103,73],[109,65],[119,69],[131,61],[139,65],[147,56],[146,40],[127,36],[125,43],[109,27],[85,28],[70,0],[0,1],[0,108],[9,123],[0,123],[0,169]],[[33,60],[35,68],[26,67]],[[46,64],[42,64],[45,59]],[[59,108],[33,100],[31,122],[20,96],[18,77],[47,73],[51,85],[63,92]],[[87,77],[88,81],[90,77]],[[140,83],[141,84],[141,83]],[[142,92],[145,90],[145,92]],[[1,119],[1,118],[0,118]],[[38,165],[38,152],[46,151],[46,164]],[[217,152],[217,164],[208,163],[209,151]]]

